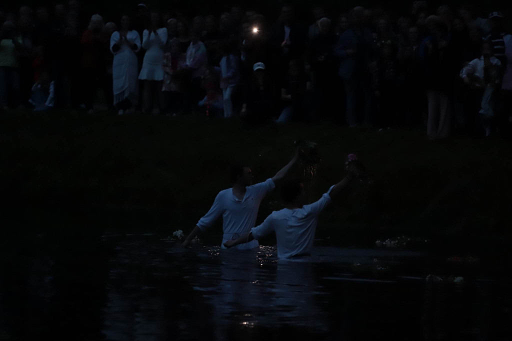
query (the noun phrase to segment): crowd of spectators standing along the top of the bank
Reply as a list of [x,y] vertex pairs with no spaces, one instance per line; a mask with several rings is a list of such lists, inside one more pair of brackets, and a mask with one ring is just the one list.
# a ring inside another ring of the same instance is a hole
[[105,23],[78,0],[23,6],[0,12],[0,110],[93,113],[103,102],[119,115],[424,126],[433,140],[506,134],[512,36],[503,13],[424,1],[404,12],[315,7],[306,22],[292,5],[189,18],[139,4]]

